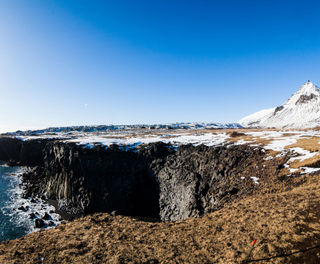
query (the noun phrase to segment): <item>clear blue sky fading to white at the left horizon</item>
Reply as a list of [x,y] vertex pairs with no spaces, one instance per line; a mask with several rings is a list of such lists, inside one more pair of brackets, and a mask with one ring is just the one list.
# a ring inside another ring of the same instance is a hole
[[235,122],[320,85],[318,0],[0,0],[0,131]]

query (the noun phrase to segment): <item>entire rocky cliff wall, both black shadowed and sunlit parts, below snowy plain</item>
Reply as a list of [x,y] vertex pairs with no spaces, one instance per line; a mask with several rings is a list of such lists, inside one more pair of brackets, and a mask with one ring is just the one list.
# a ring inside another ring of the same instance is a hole
[[[158,142],[125,150],[84,148],[59,141],[0,140],[0,159],[37,166],[23,176],[25,195],[45,194],[73,215],[113,212],[181,220],[202,216],[252,191],[255,162],[264,153],[249,146]],[[253,174],[252,174],[253,173]]]

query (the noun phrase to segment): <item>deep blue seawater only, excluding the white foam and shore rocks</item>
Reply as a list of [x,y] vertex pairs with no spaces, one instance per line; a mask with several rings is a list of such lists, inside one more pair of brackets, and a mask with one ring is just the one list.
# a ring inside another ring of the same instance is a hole
[[15,239],[29,233],[30,221],[14,209],[19,199],[19,173],[21,168],[0,164],[0,241]]

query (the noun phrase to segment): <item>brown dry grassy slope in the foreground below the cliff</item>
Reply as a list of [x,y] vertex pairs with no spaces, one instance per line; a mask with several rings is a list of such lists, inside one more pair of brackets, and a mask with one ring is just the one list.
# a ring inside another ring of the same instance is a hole
[[179,222],[79,218],[2,242],[0,263],[320,263],[320,175],[285,176],[264,186]]

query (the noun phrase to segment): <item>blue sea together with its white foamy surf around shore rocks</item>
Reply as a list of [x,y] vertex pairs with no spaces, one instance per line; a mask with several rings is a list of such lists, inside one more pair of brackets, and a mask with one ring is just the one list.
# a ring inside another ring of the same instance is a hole
[[0,241],[40,230],[35,227],[35,220],[42,219],[45,213],[50,215],[49,219],[44,220],[45,228],[53,228],[61,222],[60,215],[54,212],[52,205],[40,198],[22,197],[20,176],[24,170],[22,167],[9,167],[0,163]]

